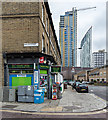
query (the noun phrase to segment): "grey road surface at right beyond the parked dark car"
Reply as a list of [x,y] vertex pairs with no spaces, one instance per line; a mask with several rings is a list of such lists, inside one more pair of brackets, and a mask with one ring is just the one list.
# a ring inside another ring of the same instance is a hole
[[108,101],[108,86],[89,85],[89,93],[94,93],[98,97]]

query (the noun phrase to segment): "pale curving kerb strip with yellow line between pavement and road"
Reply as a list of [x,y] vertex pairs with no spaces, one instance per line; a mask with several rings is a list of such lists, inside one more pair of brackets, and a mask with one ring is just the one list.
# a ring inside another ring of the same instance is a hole
[[37,113],[37,112],[23,112],[23,111],[14,111],[14,110],[0,110],[2,112],[11,112],[11,113],[23,113],[23,114],[34,114],[34,115],[93,115],[106,113],[106,109],[96,112],[87,112],[87,113]]

